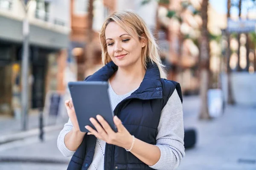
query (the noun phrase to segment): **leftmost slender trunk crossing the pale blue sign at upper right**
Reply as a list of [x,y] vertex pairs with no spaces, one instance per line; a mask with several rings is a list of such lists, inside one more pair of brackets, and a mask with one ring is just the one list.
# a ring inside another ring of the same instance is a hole
[[[227,0],[227,18],[230,18],[231,0]],[[233,105],[234,97],[231,84],[231,69],[230,69],[230,34],[227,34],[227,103]],[[239,64],[238,64],[239,65]]]

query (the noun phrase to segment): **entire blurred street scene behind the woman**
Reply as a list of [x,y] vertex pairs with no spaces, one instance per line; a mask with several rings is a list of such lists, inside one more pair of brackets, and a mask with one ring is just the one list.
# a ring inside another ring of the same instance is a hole
[[179,170],[256,170],[255,0],[0,0],[0,170],[64,170],[67,82],[102,67],[98,32],[133,9],[180,82]]

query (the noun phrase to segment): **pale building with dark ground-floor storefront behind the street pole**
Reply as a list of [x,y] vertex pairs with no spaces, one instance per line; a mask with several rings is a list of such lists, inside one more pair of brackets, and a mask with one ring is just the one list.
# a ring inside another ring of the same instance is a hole
[[[27,14],[29,108],[39,108],[47,91],[63,89],[58,65],[67,58],[70,0],[31,0]],[[20,0],[0,0],[0,115],[20,116],[24,17]]]

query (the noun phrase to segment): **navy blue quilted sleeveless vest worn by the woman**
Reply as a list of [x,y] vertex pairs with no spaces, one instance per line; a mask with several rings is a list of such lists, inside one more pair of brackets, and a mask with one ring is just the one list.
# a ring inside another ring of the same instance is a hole
[[[117,66],[109,62],[85,81],[108,81],[116,70]],[[179,83],[161,79],[157,65],[148,63],[140,87],[116,106],[114,115],[121,119],[131,135],[149,144],[156,144],[160,113],[175,88],[182,102]],[[67,170],[87,170],[93,160],[95,144],[96,137],[86,134]],[[106,144],[104,156],[104,170],[152,169],[132,153],[116,145]]]

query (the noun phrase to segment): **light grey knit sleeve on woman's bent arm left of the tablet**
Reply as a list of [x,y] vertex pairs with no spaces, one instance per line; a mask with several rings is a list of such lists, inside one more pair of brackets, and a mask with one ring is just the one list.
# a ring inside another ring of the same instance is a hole
[[61,153],[66,156],[66,157],[70,157],[73,156],[73,154],[75,153],[75,151],[71,151],[69,150],[64,142],[64,138],[66,136],[67,133],[70,132],[70,130],[72,129],[73,125],[72,122],[70,121],[70,119],[68,120],[68,122],[64,125],[63,129],[61,130],[60,134],[58,135],[58,139],[57,139],[57,146],[58,149],[61,151]]

